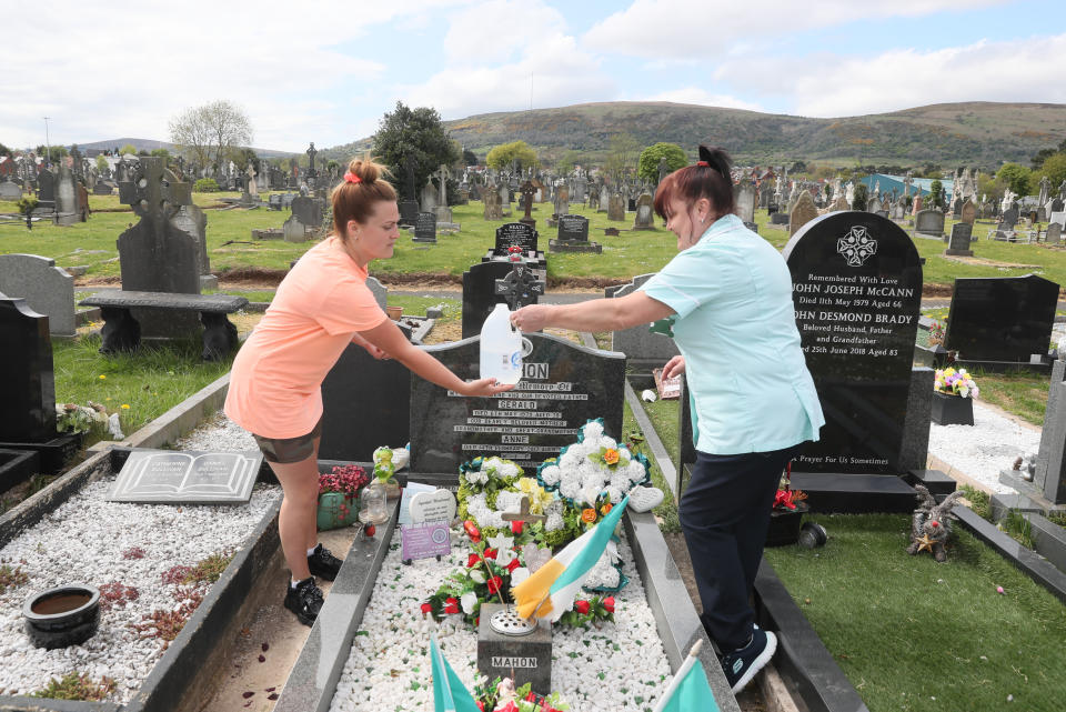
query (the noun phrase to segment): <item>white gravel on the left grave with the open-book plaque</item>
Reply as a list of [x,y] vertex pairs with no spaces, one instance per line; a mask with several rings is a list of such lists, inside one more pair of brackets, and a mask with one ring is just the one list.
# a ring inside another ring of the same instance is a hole
[[[240,431],[247,438],[241,442],[231,427],[209,427],[178,448],[255,448],[251,437]],[[164,650],[163,640],[145,636],[134,625],[153,611],[179,608],[182,601],[175,594],[189,588],[165,583],[162,574],[175,565],[194,566],[211,554],[237,553],[281,497],[280,488],[258,484],[242,504],[109,502],[113,481],[111,475],[86,485],[0,548],[0,562],[29,576],[27,583],[0,592],[0,694],[29,694],[53,678],[79,673],[95,681],[113,679],[110,701],[129,702]],[[123,556],[134,546],[143,550],[142,558]],[[30,595],[67,583],[98,589],[121,583],[137,589],[138,595],[107,610],[101,606],[99,632],[81,645],[34,648],[23,630],[22,604]]]

